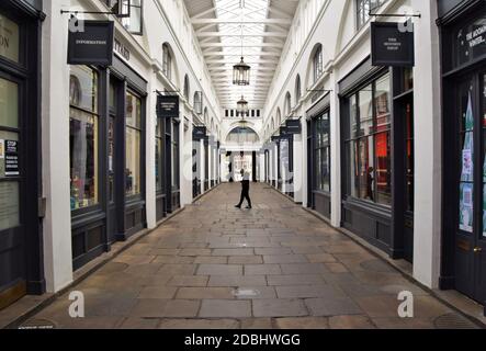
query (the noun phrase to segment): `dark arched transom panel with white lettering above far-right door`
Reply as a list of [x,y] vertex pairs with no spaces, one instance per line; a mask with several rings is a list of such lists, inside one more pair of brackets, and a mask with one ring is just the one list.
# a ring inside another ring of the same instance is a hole
[[454,37],[457,47],[455,66],[486,55],[486,22],[483,18],[460,29]]

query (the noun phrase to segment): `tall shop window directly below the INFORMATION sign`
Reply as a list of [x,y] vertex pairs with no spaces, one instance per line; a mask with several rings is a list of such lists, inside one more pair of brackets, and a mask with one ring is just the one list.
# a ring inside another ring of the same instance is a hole
[[71,66],[69,89],[70,206],[75,211],[99,204],[97,72]]

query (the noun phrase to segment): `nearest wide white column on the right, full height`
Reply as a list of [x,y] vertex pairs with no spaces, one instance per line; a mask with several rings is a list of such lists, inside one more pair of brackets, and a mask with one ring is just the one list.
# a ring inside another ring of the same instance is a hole
[[415,228],[414,276],[437,287],[441,253],[441,76],[437,1],[412,0],[415,21]]

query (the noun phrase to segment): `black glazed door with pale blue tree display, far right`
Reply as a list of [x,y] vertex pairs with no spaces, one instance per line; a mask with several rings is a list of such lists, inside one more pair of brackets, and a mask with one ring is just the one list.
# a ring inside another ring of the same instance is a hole
[[486,78],[475,75],[457,84],[457,226],[455,286],[486,301]]

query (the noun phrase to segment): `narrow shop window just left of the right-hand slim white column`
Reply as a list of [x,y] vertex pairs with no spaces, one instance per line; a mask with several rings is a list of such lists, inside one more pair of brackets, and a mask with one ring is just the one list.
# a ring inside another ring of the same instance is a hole
[[330,192],[330,129],[329,112],[314,120],[315,190]]

